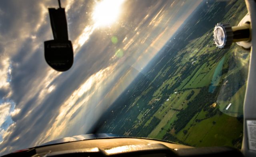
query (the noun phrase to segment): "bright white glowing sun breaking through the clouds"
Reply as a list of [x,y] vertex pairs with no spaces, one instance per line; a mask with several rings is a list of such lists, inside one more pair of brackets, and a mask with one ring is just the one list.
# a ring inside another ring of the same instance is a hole
[[92,14],[95,25],[110,26],[120,14],[121,5],[124,0],[102,0],[99,2]]

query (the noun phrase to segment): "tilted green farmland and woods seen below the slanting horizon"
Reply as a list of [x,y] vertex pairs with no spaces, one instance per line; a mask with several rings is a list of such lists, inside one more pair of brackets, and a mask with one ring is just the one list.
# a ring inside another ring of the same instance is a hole
[[218,22],[237,25],[242,0],[204,1],[114,102],[99,132],[191,146],[241,147],[248,51],[213,45]]

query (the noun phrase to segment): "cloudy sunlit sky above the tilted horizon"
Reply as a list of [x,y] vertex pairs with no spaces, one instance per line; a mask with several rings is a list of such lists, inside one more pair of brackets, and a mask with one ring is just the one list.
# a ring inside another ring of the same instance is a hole
[[0,2],[0,155],[90,133],[201,0],[62,0],[74,64],[44,60],[57,0]]

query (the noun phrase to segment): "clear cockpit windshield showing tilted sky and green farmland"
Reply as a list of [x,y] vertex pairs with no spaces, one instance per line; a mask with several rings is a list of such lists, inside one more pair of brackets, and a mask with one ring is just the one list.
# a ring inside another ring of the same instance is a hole
[[66,72],[43,56],[58,2],[0,4],[1,154],[88,133],[241,148],[250,51],[213,31],[244,0],[63,0]]

